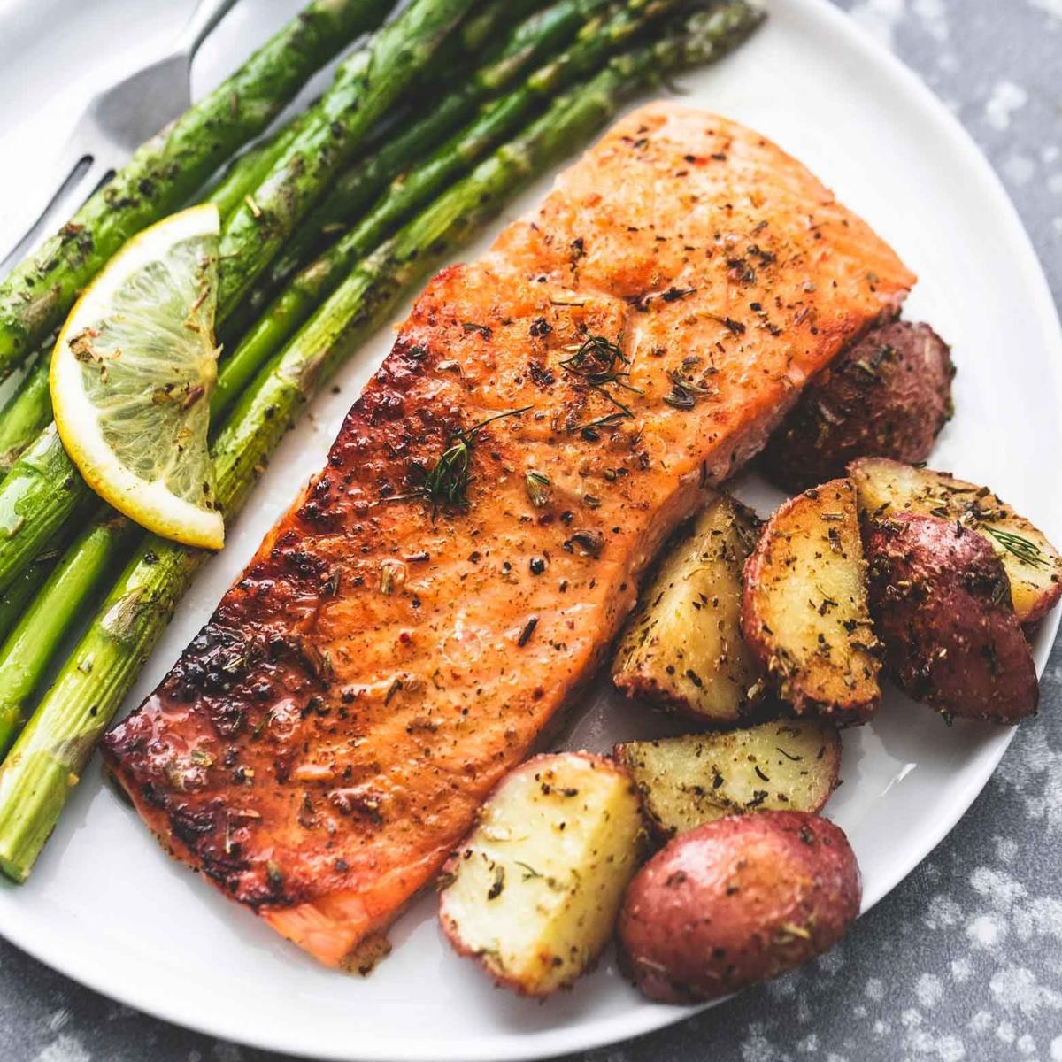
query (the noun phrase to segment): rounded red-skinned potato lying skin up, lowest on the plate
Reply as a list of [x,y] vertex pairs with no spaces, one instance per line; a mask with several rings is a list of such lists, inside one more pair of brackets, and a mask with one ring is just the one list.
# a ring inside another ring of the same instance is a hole
[[732,816],[682,834],[635,875],[621,965],[658,1003],[716,999],[828,950],[859,913],[844,833],[802,811]]

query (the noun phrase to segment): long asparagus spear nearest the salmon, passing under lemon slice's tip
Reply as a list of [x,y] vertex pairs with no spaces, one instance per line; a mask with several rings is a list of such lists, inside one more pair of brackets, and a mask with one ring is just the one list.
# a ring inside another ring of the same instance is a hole
[[[759,18],[743,2],[726,3],[617,56],[366,258],[259,375],[218,436],[218,498],[225,512],[238,512],[301,408],[409,284],[585,140],[632,88],[721,55]],[[0,870],[12,879],[29,875],[96,741],[204,559],[202,551],[144,537],[0,768]]]

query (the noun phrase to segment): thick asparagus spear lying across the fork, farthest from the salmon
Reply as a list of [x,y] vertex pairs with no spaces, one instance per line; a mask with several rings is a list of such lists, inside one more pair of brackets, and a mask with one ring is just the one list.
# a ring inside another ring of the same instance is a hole
[[380,0],[313,0],[16,267],[0,285],[0,378],[63,322],[79,290],[130,236],[188,200],[314,70],[374,25],[384,6]]

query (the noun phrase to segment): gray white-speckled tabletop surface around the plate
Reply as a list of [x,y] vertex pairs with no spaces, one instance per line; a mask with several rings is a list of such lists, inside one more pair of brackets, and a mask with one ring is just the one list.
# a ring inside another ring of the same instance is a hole
[[[1062,302],[1062,0],[836,0],[1003,175]],[[838,948],[702,1018],[567,1062],[1062,1062],[1062,643],[958,827]],[[0,942],[3,1062],[280,1062],[88,992]]]

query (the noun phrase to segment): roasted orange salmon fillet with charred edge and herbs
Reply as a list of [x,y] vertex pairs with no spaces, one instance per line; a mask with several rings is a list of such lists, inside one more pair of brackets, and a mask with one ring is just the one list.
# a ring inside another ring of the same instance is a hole
[[[370,965],[703,489],[913,281],[757,133],[629,115],[430,281],[327,465],[107,736],[110,771],[178,859]],[[455,432],[498,413],[466,504],[433,506]]]

